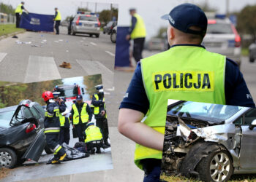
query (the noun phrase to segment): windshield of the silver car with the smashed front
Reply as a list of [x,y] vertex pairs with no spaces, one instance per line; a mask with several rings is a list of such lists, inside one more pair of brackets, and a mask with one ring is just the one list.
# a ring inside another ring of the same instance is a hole
[[209,122],[222,122],[236,114],[241,108],[244,107],[187,101],[170,108],[167,114]]

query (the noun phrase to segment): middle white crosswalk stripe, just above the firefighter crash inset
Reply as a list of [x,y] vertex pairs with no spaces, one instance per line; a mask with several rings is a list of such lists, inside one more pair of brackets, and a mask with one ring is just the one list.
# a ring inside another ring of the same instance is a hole
[[53,57],[30,55],[24,82],[42,82],[61,79]]

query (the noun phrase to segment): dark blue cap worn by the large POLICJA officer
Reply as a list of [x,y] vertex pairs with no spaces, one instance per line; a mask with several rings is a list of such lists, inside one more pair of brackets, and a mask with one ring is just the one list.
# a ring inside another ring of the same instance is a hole
[[[174,7],[169,14],[161,17],[164,20],[169,20],[170,25],[179,31],[192,34],[204,34],[207,30],[207,17],[200,7],[195,4],[181,4]],[[201,31],[189,29],[191,26],[202,28]]]

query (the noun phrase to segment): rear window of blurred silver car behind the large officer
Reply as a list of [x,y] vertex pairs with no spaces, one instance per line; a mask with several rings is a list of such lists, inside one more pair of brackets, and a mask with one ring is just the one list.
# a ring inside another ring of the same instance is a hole
[[208,24],[206,33],[224,33],[224,34],[232,34],[231,25],[228,23],[214,23]]

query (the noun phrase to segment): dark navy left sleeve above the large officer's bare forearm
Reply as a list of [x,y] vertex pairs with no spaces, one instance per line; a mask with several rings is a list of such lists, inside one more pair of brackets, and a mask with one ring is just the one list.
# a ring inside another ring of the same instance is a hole
[[138,63],[135,73],[132,76],[132,81],[121,102],[119,108],[130,108],[146,114],[149,108],[149,101],[143,85],[140,63]]

